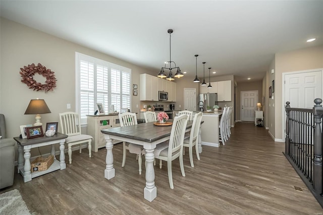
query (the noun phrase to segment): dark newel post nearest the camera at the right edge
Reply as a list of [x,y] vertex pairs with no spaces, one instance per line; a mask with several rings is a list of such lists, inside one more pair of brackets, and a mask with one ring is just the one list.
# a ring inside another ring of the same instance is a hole
[[[316,193],[322,192],[322,99],[315,98],[313,107],[313,116],[315,122],[314,128],[314,158],[313,158],[313,188]],[[320,113],[320,114],[319,114]]]

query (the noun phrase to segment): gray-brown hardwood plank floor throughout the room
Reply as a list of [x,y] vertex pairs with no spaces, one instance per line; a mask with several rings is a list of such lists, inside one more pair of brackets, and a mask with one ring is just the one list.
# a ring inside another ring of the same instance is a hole
[[83,149],[81,154],[73,151],[73,164],[67,164],[66,170],[27,183],[16,173],[14,185],[0,193],[18,189],[34,214],[322,214],[283,150],[284,143],[274,142],[268,130],[236,123],[225,146],[203,146],[201,160],[193,153],[194,168],[186,149],[186,177],[174,160],[174,190],[169,187],[167,164],[159,169],[157,162],[157,198],[152,202],[143,198],[144,160],[142,175],[135,154],[127,154],[122,168],[122,144],[113,149],[116,177],[112,180],[104,178],[105,148],[91,158]]

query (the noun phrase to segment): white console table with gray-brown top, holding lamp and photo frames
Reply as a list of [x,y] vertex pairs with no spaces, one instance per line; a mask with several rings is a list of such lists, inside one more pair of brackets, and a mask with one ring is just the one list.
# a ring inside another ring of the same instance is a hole
[[[64,170],[66,169],[65,164],[65,154],[64,154],[64,143],[65,138],[68,135],[57,133],[52,137],[36,137],[33,139],[20,139],[19,137],[14,137],[18,145],[18,173],[22,175],[24,178],[24,182],[31,181],[32,178],[44,175],[46,173],[50,173],[56,170]],[[56,159],[55,156],[55,144],[60,144],[60,160]],[[53,164],[44,171],[39,172],[31,172],[31,165],[30,165],[30,149],[51,145],[51,152],[50,154],[54,155],[54,162]],[[24,154],[22,153],[24,151]],[[24,164],[25,159],[25,164]]]

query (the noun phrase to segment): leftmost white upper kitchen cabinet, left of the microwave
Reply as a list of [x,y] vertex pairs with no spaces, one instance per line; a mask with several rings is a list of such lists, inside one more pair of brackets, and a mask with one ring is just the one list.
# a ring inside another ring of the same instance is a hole
[[158,101],[158,77],[140,74],[140,100]]

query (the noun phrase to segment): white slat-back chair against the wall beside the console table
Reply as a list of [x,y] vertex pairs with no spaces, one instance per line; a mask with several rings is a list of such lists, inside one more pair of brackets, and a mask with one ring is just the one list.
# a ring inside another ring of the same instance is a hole
[[59,114],[60,116],[60,124],[62,133],[68,135],[65,139],[65,142],[68,145],[68,154],[69,154],[69,163],[72,164],[72,146],[80,145],[80,153],[82,152],[82,143],[86,143],[88,145],[89,157],[91,157],[91,141],[93,139],[92,136],[87,134],[81,134],[81,119],[80,115],[75,112],[65,112]]

